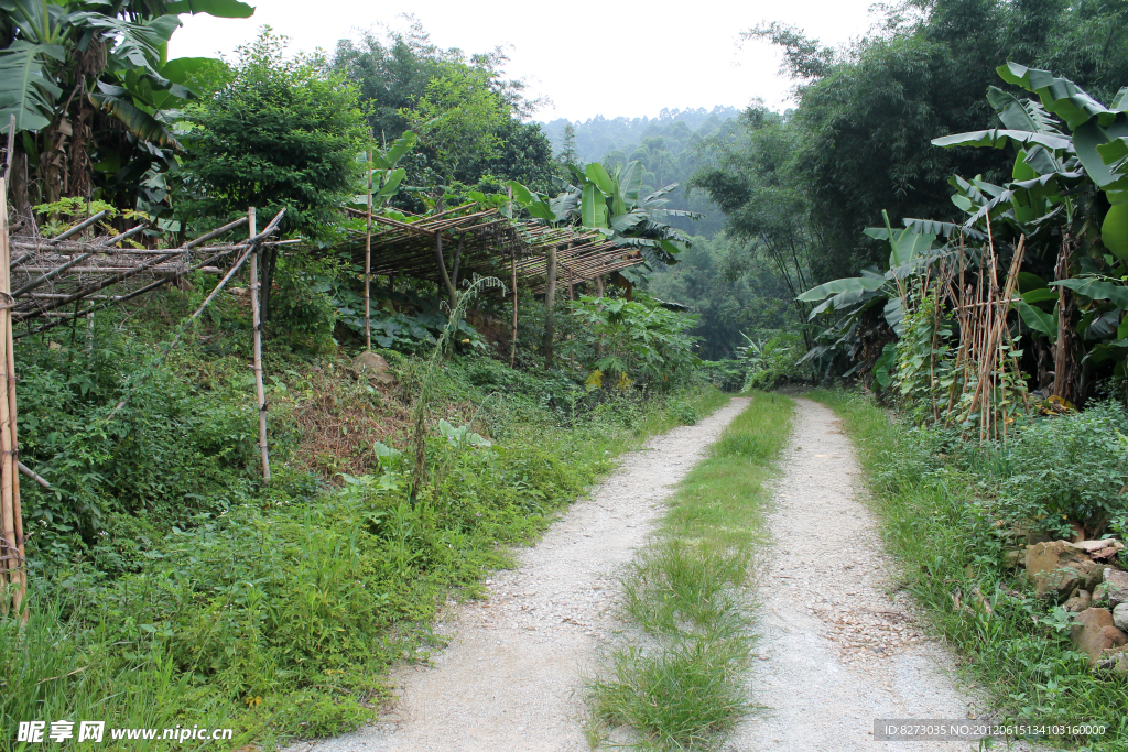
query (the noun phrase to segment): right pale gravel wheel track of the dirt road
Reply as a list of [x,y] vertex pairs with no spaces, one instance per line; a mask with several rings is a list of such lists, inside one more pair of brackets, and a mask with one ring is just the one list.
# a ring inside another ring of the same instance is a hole
[[[796,399],[791,444],[763,561],[758,658],[749,681],[765,709],[725,750],[957,752],[970,742],[875,742],[875,718],[966,719],[981,704],[952,681],[952,656],[896,589],[896,564],[834,412]],[[1006,747],[1031,749],[1028,744]]]

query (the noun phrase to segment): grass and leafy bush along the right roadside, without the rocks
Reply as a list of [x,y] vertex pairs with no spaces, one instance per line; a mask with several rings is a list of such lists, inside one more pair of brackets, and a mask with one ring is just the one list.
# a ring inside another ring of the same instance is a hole
[[812,396],[841,416],[860,448],[904,585],[960,648],[969,674],[1012,717],[1108,729],[1058,743],[1125,749],[1128,678],[1094,672],[1069,639],[1072,614],[1036,598],[1006,559],[1033,536],[1068,534],[1069,522],[1094,537],[1128,532],[1119,495],[1128,479],[1118,436],[1128,428],[1123,408],[1039,418],[1003,445],[901,425],[856,393]]

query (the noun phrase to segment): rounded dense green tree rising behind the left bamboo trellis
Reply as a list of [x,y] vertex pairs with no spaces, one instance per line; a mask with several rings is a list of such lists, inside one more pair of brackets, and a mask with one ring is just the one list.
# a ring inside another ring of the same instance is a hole
[[[195,195],[182,211],[220,224],[248,206],[285,209],[285,233],[327,242],[353,197],[368,129],[356,87],[318,54],[287,57],[285,44],[263,27],[239,47],[231,81],[190,110],[184,179]],[[263,255],[264,319],[276,258],[276,247]]]

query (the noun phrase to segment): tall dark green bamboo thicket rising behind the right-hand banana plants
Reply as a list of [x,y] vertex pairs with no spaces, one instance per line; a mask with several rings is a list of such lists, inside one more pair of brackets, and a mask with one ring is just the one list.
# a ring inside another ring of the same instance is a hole
[[1123,14],[1120,3],[1102,2],[905,2],[844,50],[781,25],[751,30],[784,50],[784,68],[800,85],[793,157],[822,244],[819,276],[880,260],[880,247],[861,232],[881,224],[882,210],[950,219],[952,174],[992,179],[1006,169],[994,152],[929,148],[934,138],[984,127],[992,113],[982,96],[999,64],[1051,68],[1111,98],[1128,80]]

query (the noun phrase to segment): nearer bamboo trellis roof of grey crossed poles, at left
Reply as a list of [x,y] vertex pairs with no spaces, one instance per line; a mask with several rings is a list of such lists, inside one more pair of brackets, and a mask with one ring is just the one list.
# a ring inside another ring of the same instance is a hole
[[[12,319],[14,322],[26,324],[26,328],[17,330],[16,337],[136,298],[190,272],[215,268],[213,264],[237,250],[247,250],[252,242],[266,245],[263,238],[274,232],[281,219],[281,215],[275,218],[253,239],[213,245],[205,244],[246,225],[247,218],[243,216],[177,248],[150,249],[123,245],[144,230],[144,224],[113,237],[78,238],[104,215],[105,212],[95,214],[55,238],[17,236],[10,239]],[[33,319],[45,319],[46,324],[33,328]]]

